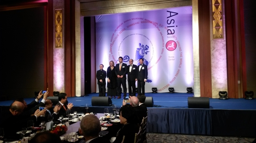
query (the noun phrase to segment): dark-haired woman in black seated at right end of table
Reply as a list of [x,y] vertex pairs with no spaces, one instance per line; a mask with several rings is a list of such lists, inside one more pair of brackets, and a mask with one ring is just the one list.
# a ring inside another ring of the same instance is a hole
[[120,123],[123,127],[117,132],[117,138],[113,143],[121,143],[123,136],[125,136],[124,143],[133,143],[135,133],[139,132],[139,126],[138,117],[130,104],[120,108]]

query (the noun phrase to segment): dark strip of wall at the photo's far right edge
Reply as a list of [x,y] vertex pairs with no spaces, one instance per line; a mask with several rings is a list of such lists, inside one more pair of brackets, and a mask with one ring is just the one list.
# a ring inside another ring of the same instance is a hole
[[[247,91],[256,94],[256,0],[244,0]],[[254,94],[254,97],[256,95]]]

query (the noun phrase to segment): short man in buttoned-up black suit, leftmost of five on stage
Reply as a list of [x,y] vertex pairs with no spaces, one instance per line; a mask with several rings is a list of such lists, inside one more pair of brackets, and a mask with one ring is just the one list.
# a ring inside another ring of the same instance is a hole
[[98,80],[99,96],[106,96],[106,77],[107,72],[103,70],[104,65],[100,64],[100,70],[96,72]]

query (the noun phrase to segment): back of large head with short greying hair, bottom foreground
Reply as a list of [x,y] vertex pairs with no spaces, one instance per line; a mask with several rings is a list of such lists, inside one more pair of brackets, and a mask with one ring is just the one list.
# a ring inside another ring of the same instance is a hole
[[86,115],[81,121],[80,128],[83,136],[96,138],[101,131],[100,120],[93,114]]

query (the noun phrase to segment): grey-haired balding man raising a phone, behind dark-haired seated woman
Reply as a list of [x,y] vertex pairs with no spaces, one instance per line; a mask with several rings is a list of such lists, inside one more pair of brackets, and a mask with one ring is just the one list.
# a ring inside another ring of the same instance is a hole
[[[135,110],[135,114],[137,115],[137,117],[139,118],[137,123],[141,123],[143,117],[147,116],[147,109],[139,106],[139,99],[136,96],[130,96],[130,105],[132,105],[132,107],[134,107]],[[125,105],[126,103],[123,101],[122,105]]]

